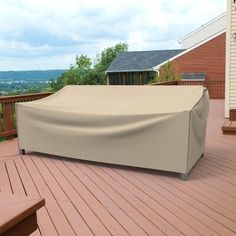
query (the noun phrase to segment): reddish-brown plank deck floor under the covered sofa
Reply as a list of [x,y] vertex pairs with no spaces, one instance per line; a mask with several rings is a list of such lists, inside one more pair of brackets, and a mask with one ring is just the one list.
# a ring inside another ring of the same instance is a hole
[[[0,191],[42,197],[34,235],[236,235],[236,136],[223,135],[212,100],[206,154],[176,174],[17,154],[0,143]],[[148,155],[148,153],[147,153]]]

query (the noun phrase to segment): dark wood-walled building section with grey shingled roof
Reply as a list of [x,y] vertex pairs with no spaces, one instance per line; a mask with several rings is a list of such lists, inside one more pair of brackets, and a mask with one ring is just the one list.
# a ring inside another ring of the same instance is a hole
[[178,49],[120,53],[106,71],[107,82],[110,85],[147,84],[156,74],[156,65],[183,51]]

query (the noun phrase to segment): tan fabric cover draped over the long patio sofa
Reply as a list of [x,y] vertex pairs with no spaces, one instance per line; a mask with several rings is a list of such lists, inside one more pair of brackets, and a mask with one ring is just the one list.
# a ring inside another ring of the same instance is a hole
[[66,86],[16,104],[19,148],[188,173],[204,152],[201,86]]

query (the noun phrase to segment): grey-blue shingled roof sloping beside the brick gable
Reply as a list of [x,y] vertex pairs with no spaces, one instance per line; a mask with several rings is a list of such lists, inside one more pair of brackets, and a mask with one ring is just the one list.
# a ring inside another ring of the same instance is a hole
[[154,71],[156,65],[183,51],[183,49],[174,49],[122,52],[113,60],[106,72]]

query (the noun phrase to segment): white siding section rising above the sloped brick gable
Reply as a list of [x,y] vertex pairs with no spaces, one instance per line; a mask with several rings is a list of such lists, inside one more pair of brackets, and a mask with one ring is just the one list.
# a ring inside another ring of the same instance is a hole
[[[235,22],[236,24],[236,22]],[[188,49],[226,30],[227,14],[224,13],[179,40],[182,48]]]

